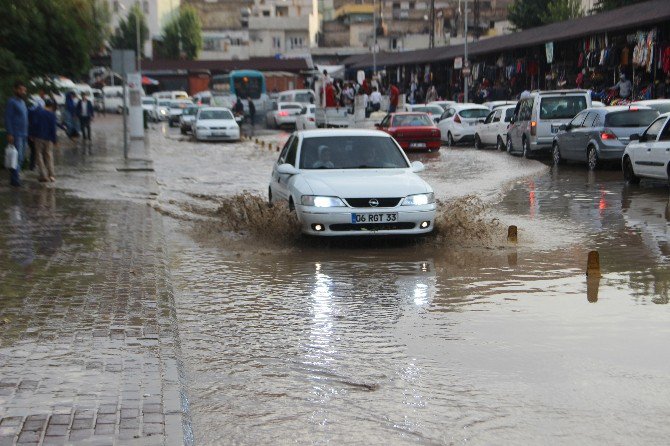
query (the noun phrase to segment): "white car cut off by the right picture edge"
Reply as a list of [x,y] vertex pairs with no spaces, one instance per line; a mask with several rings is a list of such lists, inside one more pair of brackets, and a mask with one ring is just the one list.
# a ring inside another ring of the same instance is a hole
[[623,176],[629,183],[640,178],[668,181],[670,161],[670,113],[664,113],[641,135],[630,135],[630,144],[623,153]]

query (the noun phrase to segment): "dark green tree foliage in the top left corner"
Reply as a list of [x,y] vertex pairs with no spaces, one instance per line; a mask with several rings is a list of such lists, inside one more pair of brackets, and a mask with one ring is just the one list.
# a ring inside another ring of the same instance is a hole
[[0,6],[0,48],[20,62],[26,76],[86,72],[97,29],[93,20],[98,0],[3,1]]

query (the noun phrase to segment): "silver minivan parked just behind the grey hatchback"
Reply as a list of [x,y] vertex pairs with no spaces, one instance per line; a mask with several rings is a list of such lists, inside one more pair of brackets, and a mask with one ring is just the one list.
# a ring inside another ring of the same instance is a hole
[[507,151],[525,157],[550,151],[559,127],[590,107],[586,90],[532,92],[516,105],[507,130]]

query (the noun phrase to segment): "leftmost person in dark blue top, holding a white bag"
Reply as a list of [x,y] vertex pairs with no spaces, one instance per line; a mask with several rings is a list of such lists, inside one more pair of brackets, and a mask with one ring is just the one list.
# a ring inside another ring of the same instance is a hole
[[16,169],[10,169],[9,184],[21,186],[21,165],[23,164],[26,139],[28,138],[28,107],[26,106],[26,86],[23,82],[14,83],[14,96],[7,100],[5,110],[5,129],[7,130],[7,144],[14,144],[19,152],[19,162]]

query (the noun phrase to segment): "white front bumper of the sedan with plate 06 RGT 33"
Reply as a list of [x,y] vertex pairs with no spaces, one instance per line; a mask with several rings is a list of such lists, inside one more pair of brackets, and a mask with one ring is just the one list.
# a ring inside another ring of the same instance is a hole
[[[320,237],[421,235],[433,231],[436,205],[396,206],[394,208],[316,208],[296,206],[296,214],[303,234]],[[352,214],[397,214],[394,222],[352,223]],[[421,228],[422,222],[428,222]],[[317,231],[313,225],[323,225]]]

